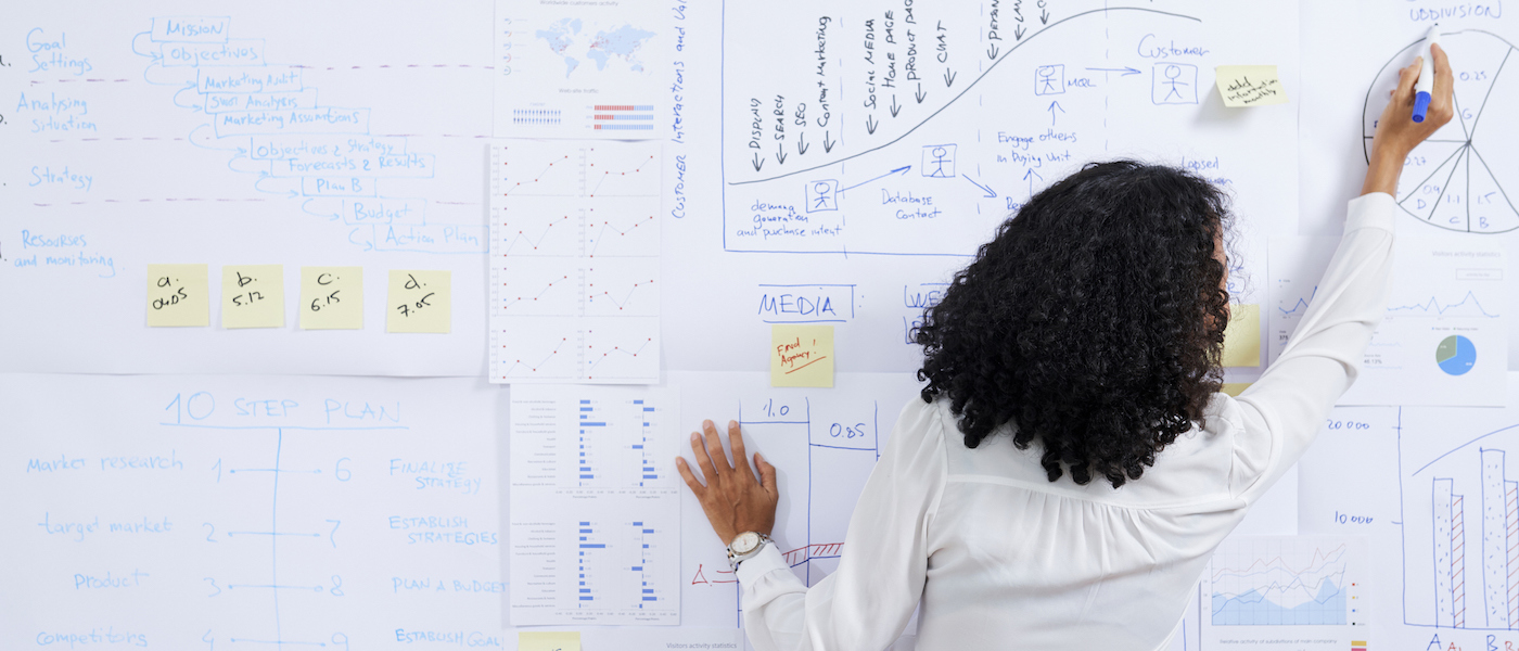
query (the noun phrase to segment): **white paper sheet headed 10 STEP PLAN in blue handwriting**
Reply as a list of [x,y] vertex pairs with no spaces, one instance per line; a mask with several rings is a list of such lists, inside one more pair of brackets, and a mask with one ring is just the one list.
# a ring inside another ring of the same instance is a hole
[[[0,375],[6,648],[500,646],[478,379]],[[483,414],[483,416],[482,416]]]

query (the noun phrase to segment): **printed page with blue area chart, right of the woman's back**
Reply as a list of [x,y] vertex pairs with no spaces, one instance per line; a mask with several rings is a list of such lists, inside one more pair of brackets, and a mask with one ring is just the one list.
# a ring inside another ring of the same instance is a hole
[[1366,542],[1355,537],[1224,540],[1203,575],[1203,648],[1366,648]]

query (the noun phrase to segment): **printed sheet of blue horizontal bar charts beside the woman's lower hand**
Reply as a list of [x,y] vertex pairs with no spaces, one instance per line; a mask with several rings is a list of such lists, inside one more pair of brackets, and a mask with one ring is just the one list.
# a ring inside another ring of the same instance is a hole
[[512,388],[510,624],[681,624],[673,390]]

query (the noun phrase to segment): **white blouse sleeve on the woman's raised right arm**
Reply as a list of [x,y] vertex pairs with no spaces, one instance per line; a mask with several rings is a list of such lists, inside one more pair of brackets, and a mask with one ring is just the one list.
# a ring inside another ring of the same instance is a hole
[[[1387,193],[1352,199],[1344,237],[1282,355],[1240,395],[1230,493],[1253,502],[1314,442],[1350,388],[1387,314],[1393,208]],[[1227,410],[1226,410],[1227,411]]]

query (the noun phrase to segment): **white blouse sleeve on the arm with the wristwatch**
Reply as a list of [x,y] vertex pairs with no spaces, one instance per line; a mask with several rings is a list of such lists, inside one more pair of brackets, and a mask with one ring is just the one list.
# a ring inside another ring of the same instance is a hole
[[936,405],[914,399],[902,410],[849,517],[838,571],[811,589],[776,545],[738,566],[756,649],[883,649],[902,633],[928,575],[928,528],[948,475],[943,437]]

